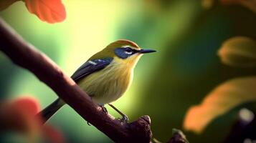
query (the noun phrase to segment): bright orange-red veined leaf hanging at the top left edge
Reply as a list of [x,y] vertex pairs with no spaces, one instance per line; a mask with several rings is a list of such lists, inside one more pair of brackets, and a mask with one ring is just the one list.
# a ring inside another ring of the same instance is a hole
[[27,9],[36,14],[42,21],[50,24],[63,21],[66,18],[65,6],[61,0],[23,0]]

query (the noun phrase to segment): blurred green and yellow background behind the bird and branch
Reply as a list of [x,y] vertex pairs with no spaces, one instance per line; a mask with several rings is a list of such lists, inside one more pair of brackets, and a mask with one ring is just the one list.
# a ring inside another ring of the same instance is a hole
[[[255,69],[222,64],[217,56],[222,42],[232,36],[256,39],[256,16],[240,4],[199,0],[63,0],[65,21],[47,24],[29,14],[18,1],[0,16],[24,39],[43,51],[67,75],[90,56],[117,39],[156,49],[138,62],[133,84],[113,104],[134,121],[151,117],[153,137],[166,142],[171,129],[182,129],[189,142],[223,142],[237,119],[240,107],[231,109],[201,134],[183,128],[189,107],[199,104],[214,87],[234,77],[255,75]],[[207,5],[208,4],[208,5]],[[209,8],[210,7],[210,8]],[[0,98],[29,95],[41,108],[57,99],[49,87],[0,52]],[[254,102],[240,105],[256,112]],[[110,114],[119,115],[107,106]],[[65,105],[48,124],[60,129],[67,142],[112,142],[105,134]]]

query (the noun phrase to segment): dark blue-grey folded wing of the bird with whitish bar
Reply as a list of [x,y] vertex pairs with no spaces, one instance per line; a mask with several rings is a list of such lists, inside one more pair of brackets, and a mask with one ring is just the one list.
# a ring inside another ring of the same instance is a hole
[[108,64],[110,64],[111,61],[113,61],[113,58],[93,59],[86,61],[85,64],[82,64],[82,66],[80,66],[80,68],[78,68],[77,71],[75,71],[71,78],[75,82],[79,82],[87,75],[105,68],[105,66],[108,66]]

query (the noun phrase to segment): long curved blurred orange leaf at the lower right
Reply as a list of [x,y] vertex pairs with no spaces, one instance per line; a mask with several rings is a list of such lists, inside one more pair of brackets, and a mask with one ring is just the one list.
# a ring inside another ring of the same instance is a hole
[[256,100],[256,77],[231,79],[210,92],[203,102],[189,108],[184,129],[201,133],[216,117],[239,104]]

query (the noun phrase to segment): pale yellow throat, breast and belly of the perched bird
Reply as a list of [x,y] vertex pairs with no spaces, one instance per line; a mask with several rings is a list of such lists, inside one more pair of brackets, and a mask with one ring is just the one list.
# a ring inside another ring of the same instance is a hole
[[93,101],[108,104],[123,95],[133,80],[133,69],[140,56],[123,60],[114,57],[104,69],[78,82],[78,85],[92,97]]

